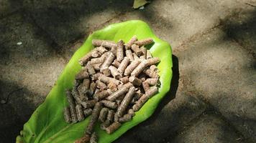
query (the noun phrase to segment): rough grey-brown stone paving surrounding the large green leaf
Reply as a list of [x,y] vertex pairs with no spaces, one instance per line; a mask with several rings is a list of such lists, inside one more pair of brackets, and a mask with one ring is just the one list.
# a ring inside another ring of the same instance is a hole
[[152,117],[116,142],[256,142],[255,7],[255,0],[155,0],[142,10],[128,0],[0,1],[0,100],[9,97],[0,104],[1,142],[14,142],[83,38],[129,19],[146,21],[171,44],[173,79]]

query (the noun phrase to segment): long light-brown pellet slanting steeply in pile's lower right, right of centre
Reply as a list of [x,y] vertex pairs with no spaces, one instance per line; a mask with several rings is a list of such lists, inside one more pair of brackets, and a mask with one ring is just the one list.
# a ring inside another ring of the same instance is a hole
[[122,117],[124,115],[124,112],[127,109],[128,105],[129,105],[129,102],[131,102],[131,100],[132,100],[134,92],[135,92],[135,87],[131,87],[129,89],[129,92],[127,92],[127,94],[125,95],[125,97],[122,100],[120,106],[116,110],[116,114],[118,115],[118,117]]

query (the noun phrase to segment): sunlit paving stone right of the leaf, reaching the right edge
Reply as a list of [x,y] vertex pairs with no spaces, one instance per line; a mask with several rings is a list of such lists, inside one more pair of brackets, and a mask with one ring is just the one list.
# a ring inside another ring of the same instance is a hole
[[214,29],[174,53],[180,63],[180,84],[199,93],[244,137],[255,141],[256,72],[252,54],[221,29]]

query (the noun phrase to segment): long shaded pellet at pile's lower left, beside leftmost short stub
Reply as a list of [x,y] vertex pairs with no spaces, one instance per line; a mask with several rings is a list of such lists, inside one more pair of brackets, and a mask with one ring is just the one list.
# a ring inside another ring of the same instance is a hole
[[71,114],[72,122],[73,123],[78,122],[78,118],[76,117],[76,105],[75,105],[73,96],[72,96],[70,90],[66,90],[65,93],[66,93],[69,107],[70,107],[70,114]]

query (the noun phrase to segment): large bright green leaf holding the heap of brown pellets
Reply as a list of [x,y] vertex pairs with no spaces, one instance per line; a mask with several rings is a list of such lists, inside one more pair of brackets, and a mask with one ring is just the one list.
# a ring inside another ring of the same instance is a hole
[[152,37],[155,41],[155,44],[151,45],[151,48],[147,48],[150,48],[153,56],[157,56],[161,59],[160,63],[157,65],[160,69],[161,82],[159,93],[149,99],[140,111],[136,112],[132,121],[122,124],[122,127],[113,134],[106,134],[106,132],[100,129],[99,124],[97,124],[95,130],[99,135],[99,142],[113,142],[124,134],[124,132],[127,132],[128,129],[131,129],[150,117],[155,111],[157,104],[160,103],[160,100],[163,99],[170,89],[170,80],[172,78],[171,68],[173,66],[171,59],[172,53],[170,45],[158,39],[145,22],[137,20],[126,21],[119,24],[111,24],[88,36],[83,46],[76,51],[67,66],[65,66],[63,73],[55,83],[55,87],[53,87],[48,94],[45,102],[35,110],[29,121],[24,124],[24,129],[17,137],[17,142],[74,142],[76,139],[82,137],[90,117],[77,124],[67,124],[63,119],[63,107],[68,105],[64,91],[65,89],[73,87],[75,75],[81,70],[78,59],[93,49],[93,45],[91,44],[92,39],[114,41],[123,39],[127,42],[133,35],[137,35],[138,39]]

